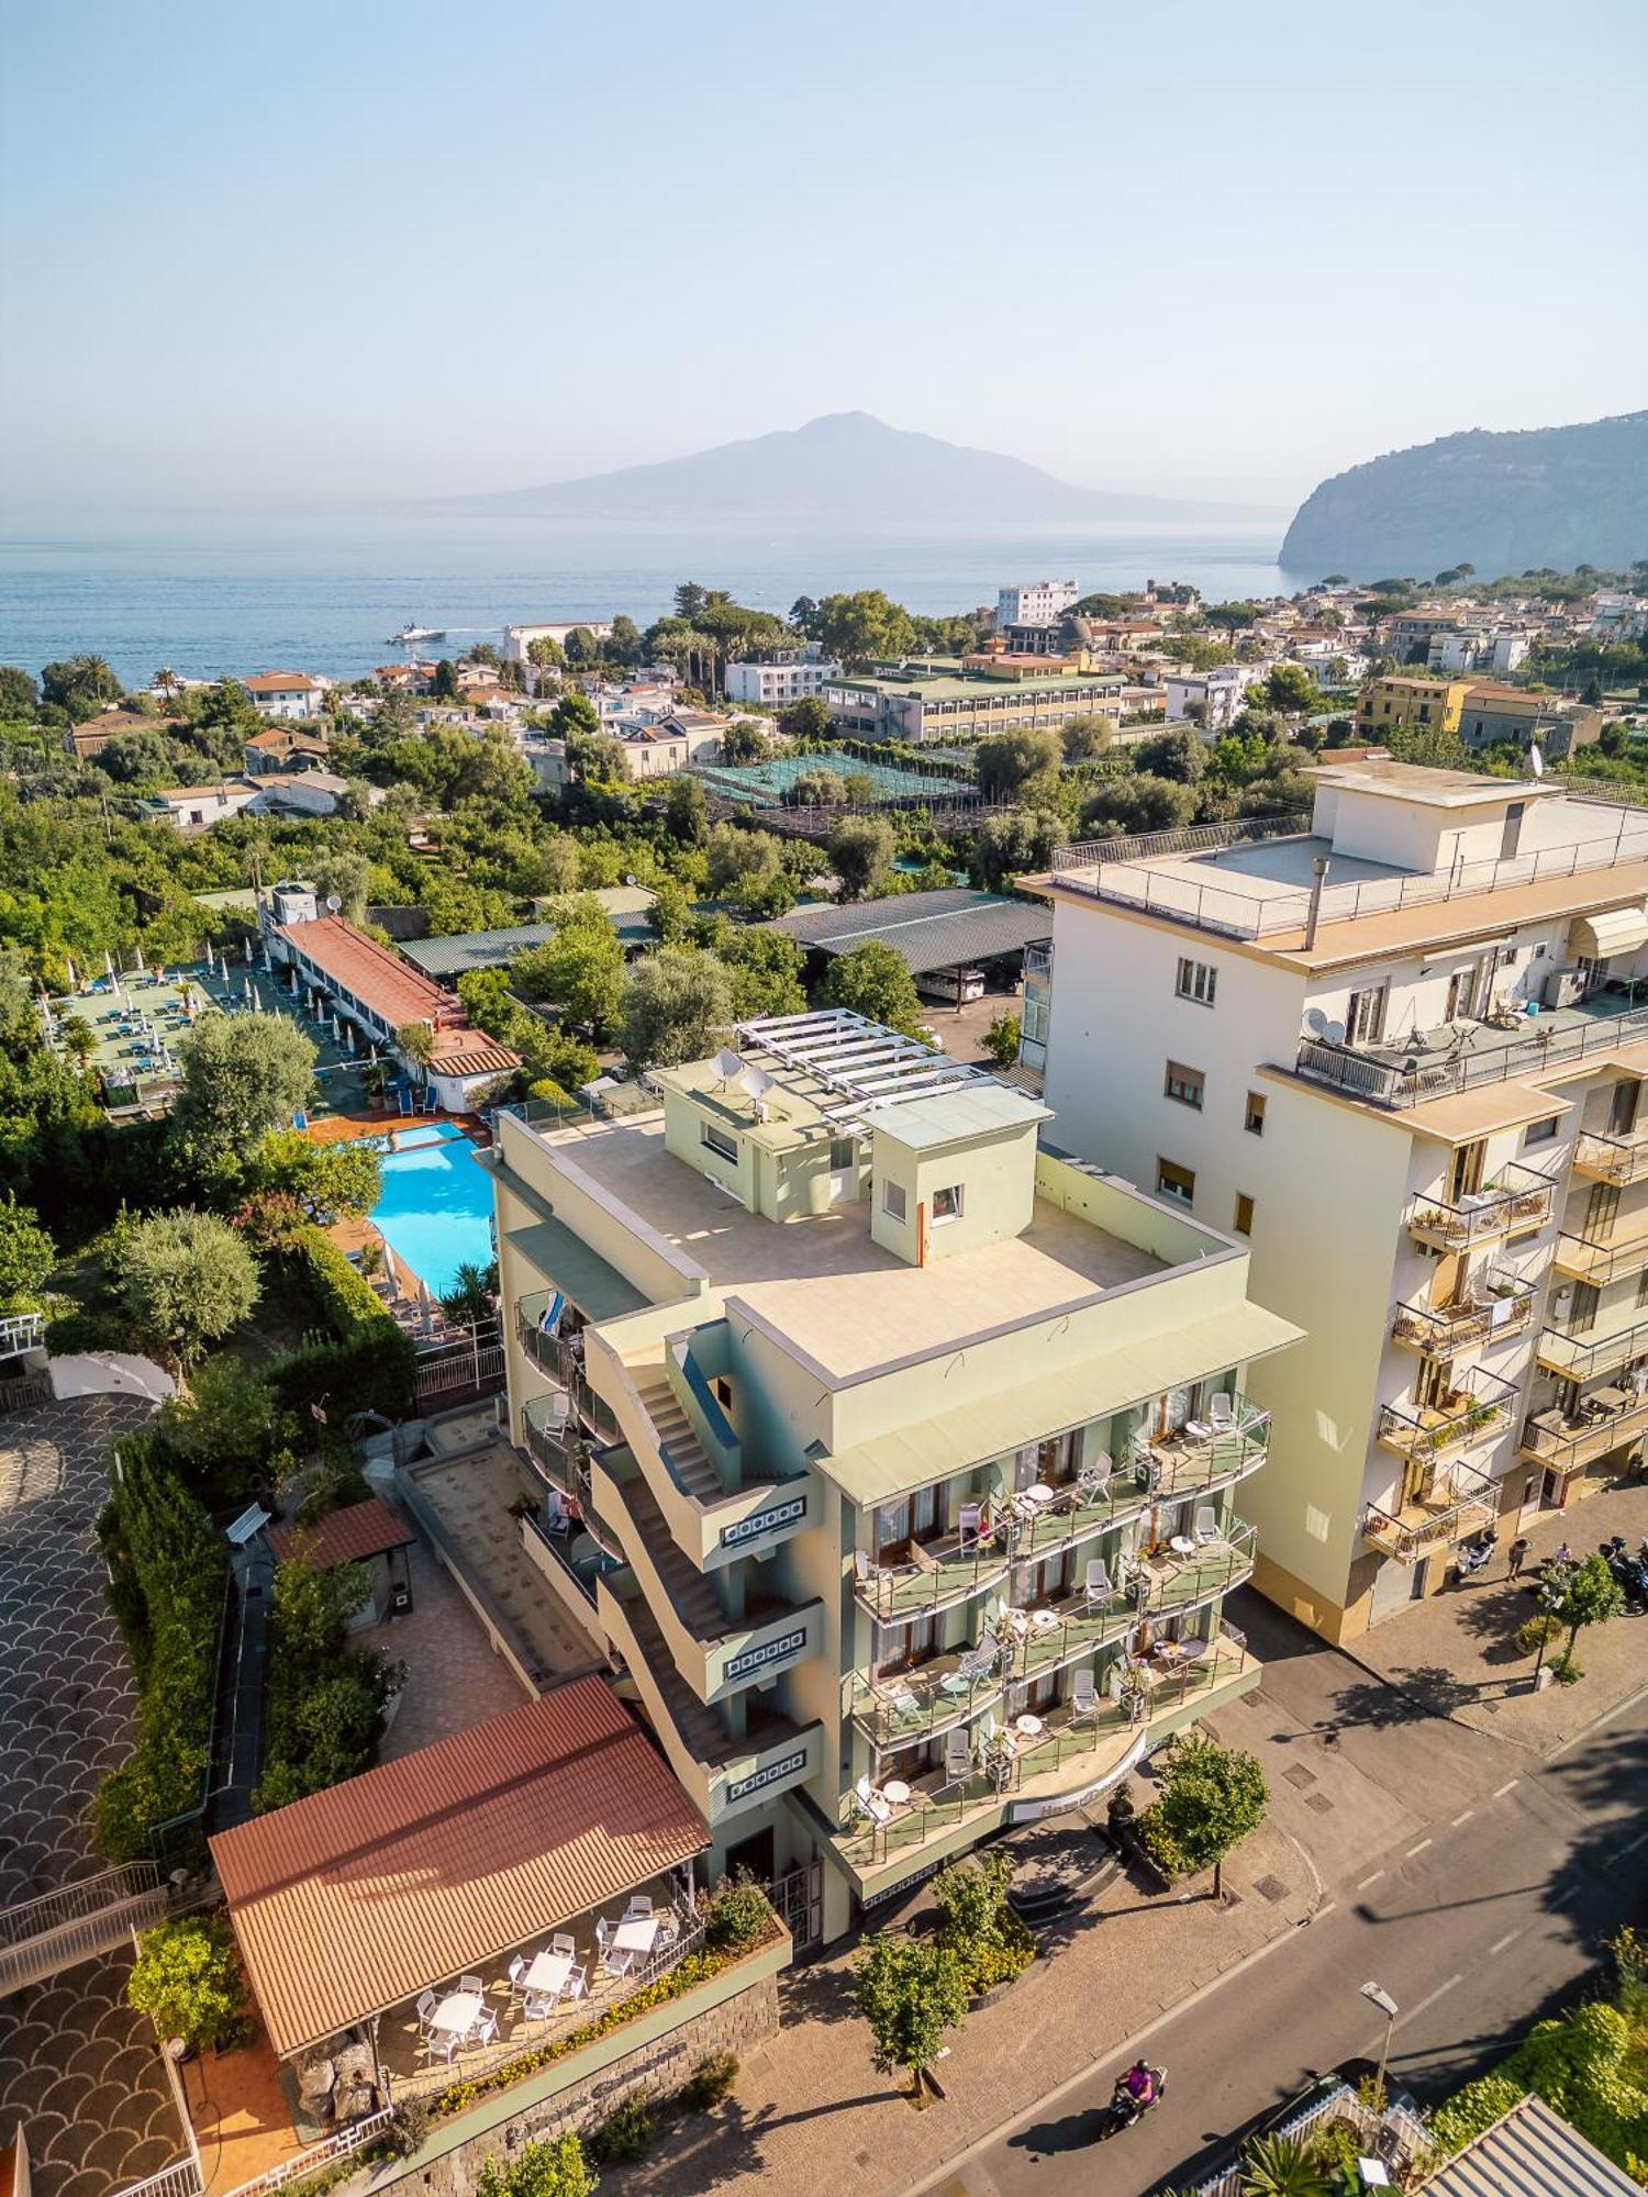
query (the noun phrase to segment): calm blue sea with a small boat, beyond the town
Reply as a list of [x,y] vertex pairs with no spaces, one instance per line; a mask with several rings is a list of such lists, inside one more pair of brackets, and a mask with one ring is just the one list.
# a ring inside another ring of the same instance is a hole
[[127,685],[308,670],[356,679],[404,624],[435,655],[501,642],[505,624],[670,609],[681,580],[789,611],[798,595],[886,589],[912,611],[993,604],[998,587],[1074,578],[1083,593],[1189,580],[1211,600],[1292,593],[1283,518],[1222,525],[787,534],[769,525],[569,525],[521,514],[226,514],[33,525],[0,521],[0,663],[90,650]]

